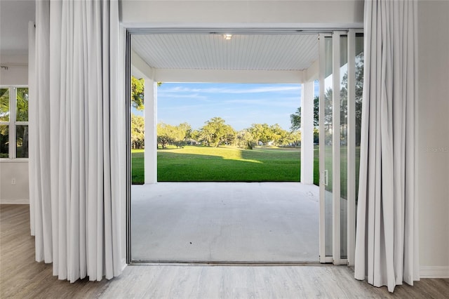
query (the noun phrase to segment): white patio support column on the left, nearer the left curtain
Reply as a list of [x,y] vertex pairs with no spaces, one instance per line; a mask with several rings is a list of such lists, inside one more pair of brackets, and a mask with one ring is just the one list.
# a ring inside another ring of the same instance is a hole
[[145,78],[145,184],[157,182],[157,87]]

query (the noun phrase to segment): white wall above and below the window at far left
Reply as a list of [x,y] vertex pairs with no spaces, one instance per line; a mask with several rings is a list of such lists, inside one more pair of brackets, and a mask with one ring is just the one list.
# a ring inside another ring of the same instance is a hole
[[[28,55],[0,53],[0,86],[28,84]],[[12,180],[15,179],[15,185]],[[28,161],[0,159],[0,204],[27,204]]]

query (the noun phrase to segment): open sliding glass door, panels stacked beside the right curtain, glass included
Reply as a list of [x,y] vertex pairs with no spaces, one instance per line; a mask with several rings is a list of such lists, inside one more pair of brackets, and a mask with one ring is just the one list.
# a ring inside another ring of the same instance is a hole
[[335,265],[354,265],[360,37],[363,45],[363,35],[350,29],[320,34],[319,41],[320,262]]

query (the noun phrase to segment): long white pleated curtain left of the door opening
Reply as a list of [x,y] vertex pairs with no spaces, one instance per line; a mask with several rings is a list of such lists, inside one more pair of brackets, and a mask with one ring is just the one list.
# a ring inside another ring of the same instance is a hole
[[29,28],[36,42],[29,68],[36,260],[53,263],[53,274],[72,282],[111,279],[123,269],[118,6],[117,0],[36,1],[35,32]]

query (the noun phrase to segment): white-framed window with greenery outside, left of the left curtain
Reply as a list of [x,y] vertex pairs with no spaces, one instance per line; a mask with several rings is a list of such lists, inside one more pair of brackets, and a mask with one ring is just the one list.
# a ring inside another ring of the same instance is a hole
[[28,88],[0,87],[0,159],[28,158]]

